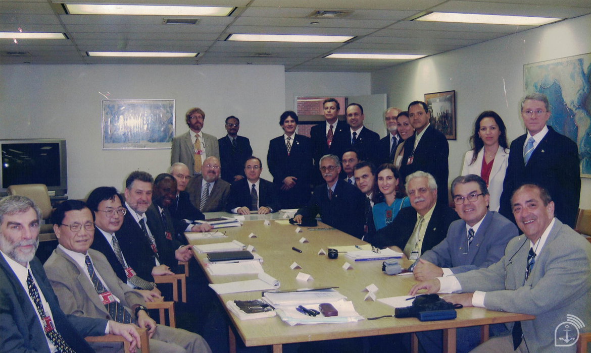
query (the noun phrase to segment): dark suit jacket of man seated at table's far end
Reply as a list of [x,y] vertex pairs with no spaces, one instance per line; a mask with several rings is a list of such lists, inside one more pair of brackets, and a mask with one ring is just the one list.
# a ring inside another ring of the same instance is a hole
[[[259,179],[258,192],[259,207],[269,207],[273,212],[281,209],[277,189],[272,182],[263,178]],[[251,207],[251,189],[248,187],[248,179],[240,179],[230,187],[230,195],[226,204],[226,212],[236,207]]]

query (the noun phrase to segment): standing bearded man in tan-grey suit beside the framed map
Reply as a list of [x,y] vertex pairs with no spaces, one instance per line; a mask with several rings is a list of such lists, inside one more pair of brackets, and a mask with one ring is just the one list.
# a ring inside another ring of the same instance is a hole
[[173,138],[170,164],[186,164],[193,175],[201,173],[201,166],[209,156],[219,158],[220,151],[215,136],[202,132],[205,113],[200,108],[191,108],[185,114],[189,131]]

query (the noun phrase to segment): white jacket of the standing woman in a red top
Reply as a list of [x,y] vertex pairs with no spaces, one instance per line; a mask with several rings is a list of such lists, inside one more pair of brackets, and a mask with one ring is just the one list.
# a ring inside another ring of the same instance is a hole
[[[476,174],[480,175],[482,172],[482,159],[484,158],[484,148],[478,152],[476,161],[472,162],[473,150],[466,152],[464,155],[464,166],[462,168],[462,175]],[[491,175],[488,177],[488,192],[491,195],[489,201],[489,210],[499,211],[501,205],[501,194],[503,192],[503,181],[505,180],[505,172],[509,162],[509,151],[499,146],[496,150],[495,161],[492,162]]]

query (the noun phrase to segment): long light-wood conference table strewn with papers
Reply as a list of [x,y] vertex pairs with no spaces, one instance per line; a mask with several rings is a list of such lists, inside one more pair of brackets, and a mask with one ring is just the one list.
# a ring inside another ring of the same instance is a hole
[[[209,213],[207,218],[233,215],[225,213]],[[264,220],[269,220],[269,225]],[[227,238],[210,238],[205,240],[193,240],[191,244],[221,243],[238,240],[246,246],[255,247],[255,253],[263,258],[262,267],[265,273],[278,279],[281,283],[279,290],[294,290],[303,288],[338,287],[336,290],[352,300],[356,311],[364,318],[372,318],[382,315],[393,315],[394,308],[384,303],[364,300],[367,292],[366,286],[374,284],[378,287],[376,299],[392,296],[407,295],[411,286],[417,283],[412,275],[389,276],[382,272],[382,261],[353,262],[344,254],[339,254],[337,259],[329,259],[327,255],[319,255],[320,249],[331,246],[351,246],[366,244],[358,238],[349,236],[339,230],[330,228],[319,222],[317,227],[300,227],[301,233],[296,233],[296,225],[285,224],[285,218],[281,213],[270,215],[247,215],[241,227],[223,228]],[[249,237],[254,233],[256,237]],[[307,242],[301,243],[304,237]],[[301,253],[292,250],[296,247]],[[206,254],[194,255],[203,268],[208,262]],[[408,260],[402,260],[403,267],[408,266]],[[291,269],[290,265],[296,262],[301,269]],[[348,262],[352,269],[343,269],[343,264]],[[256,279],[255,274],[212,276],[207,271],[207,279],[210,283],[226,283],[239,280]],[[303,282],[296,280],[299,272],[310,274],[312,279]],[[228,300],[252,300],[260,299],[261,292],[230,293],[219,295],[222,303]],[[224,307],[226,308],[225,304]],[[463,308],[457,310],[457,318],[445,321],[421,322],[417,318],[397,319],[394,317],[376,320],[363,319],[350,323],[322,323],[317,325],[290,326],[281,321],[279,316],[265,319],[241,321],[226,308],[229,319],[236,332],[246,345],[272,346],[272,351],[280,353],[283,344],[309,341],[324,341],[330,339],[355,338],[364,336],[404,334],[435,329],[443,330],[444,352],[456,351],[456,328],[465,326],[481,326],[482,339],[488,339],[488,325],[493,323],[524,321],[534,319],[535,316],[518,313],[496,312],[483,308]],[[230,329],[230,352],[235,352],[235,335]],[[417,340],[412,335],[411,350],[416,351]]]

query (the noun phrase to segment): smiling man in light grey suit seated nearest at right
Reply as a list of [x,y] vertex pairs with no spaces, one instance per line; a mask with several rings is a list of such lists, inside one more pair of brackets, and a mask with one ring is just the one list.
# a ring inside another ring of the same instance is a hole
[[[508,324],[512,335],[499,336],[473,352],[574,352],[575,327],[557,331],[575,315],[591,325],[591,244],[554,217],[554,202],[537,185],[525,184],[512,198],[513,215],[524,235],[515,237],[499,262],[486,269],[439,277],[414,285],[409,294],[463,292],[445,299],[463,306],[478,306],[535,315],[531,321]],[[574,326],[574,325],[573,325]],[[564,328],[564,327],[562,327]],[[555,336],[556,335],[556,336]],[[563,338],[561,340],[561,338]],[[559,345],[569,347],[560,347]]]

